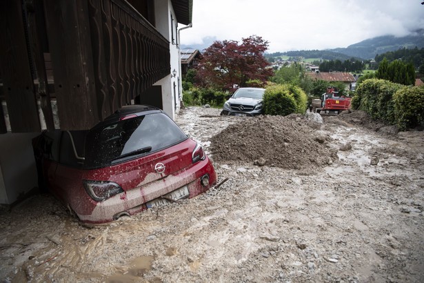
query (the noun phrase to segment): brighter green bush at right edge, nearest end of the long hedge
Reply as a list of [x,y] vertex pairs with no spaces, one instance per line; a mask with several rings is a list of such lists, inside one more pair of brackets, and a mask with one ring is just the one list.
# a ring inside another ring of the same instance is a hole
[[407,86],[393,95],[394,117],[401,130],[424,126],[424,86]]

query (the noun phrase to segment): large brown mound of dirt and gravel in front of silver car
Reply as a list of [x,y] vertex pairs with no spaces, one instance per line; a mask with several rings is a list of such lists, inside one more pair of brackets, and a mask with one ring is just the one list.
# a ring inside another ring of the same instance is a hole
[[317,137],[315,129],[302,115],[240,119],[212,137],[210,149],[218,162],[259,160],[259,165],[310,170],[337,158],[333,153],[334,159],[329,159],[325,141],[330,137]]

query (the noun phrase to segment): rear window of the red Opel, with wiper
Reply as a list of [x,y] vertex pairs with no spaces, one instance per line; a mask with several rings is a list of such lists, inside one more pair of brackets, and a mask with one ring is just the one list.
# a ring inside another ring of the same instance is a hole
[[85,168],[128,161],[179,144],[188,137],[163,113],[95,127],[85,140]]

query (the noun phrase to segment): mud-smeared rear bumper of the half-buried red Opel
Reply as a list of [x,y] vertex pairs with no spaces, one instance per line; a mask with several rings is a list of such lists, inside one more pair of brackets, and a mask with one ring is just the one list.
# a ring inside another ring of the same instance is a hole
[[[204,175],[208,175],[209,177],[208,186],[202,186],[201,184],[201,178]],[[163,179],[132,188],[131,190],[114,195],[103,202],[96,202],[90,214],[81,213],[75,208],[74,211],[83,222],[94,224],[111,222],[117,219],[119,215],[134,215],[134,213],[139,213],[147,209],[147,202],[172,191],[179,190],[184,186],[187,186],[190,193],[188,197],[190,198],[208,191],[215,184],[216,172],[210,159],[206,157],[205,160],[196,162],[196,164],[193,164],[189,168],[184,168]],[[90,202],[90,206],[92,206],[92,202],[94,201],[90,199]]]

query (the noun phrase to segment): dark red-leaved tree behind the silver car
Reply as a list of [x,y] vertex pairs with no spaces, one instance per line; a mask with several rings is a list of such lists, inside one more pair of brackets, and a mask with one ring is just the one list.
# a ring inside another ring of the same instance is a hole
[[268,41],[252,35],[238,41],[215,41],[205,49],[199,66],[196,80],[206,88],[230,90],[248,86],[248,81],[256,80],[265,84],[274,75],[270,64],[265,60],[263,52],[267,50]]

